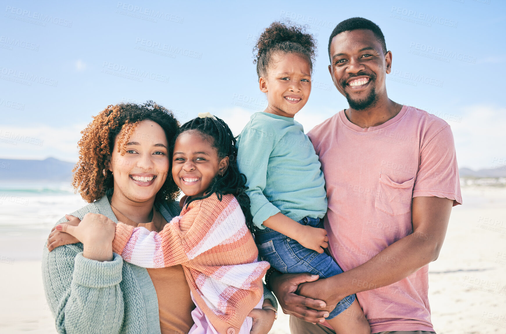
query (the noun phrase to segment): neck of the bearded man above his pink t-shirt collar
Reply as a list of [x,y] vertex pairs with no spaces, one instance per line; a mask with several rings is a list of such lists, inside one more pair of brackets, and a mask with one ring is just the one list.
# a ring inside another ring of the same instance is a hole
[[366,129],[377,127],[387,120],[394,118],[401,109],[402,104],[396,103],[386,97],[385,99],[379,99],[373,106],[366,109],[346,109],[345,115],[350,122],[360,128]]

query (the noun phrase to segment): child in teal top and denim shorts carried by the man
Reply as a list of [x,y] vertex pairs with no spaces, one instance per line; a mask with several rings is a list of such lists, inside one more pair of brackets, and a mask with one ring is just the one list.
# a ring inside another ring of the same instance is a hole
[[[263,260],[282,273],[325,278],[343,272],[323,249],[328,245],[321,228],[327,211],[325,181],[311,141],[293,119],[311,93],[314,49],[312,35],[300,27],[274,22],[262,33],[255,63],[268,106],[251,115],[239,135],[237,162],[246,176]],[[336,317],[346,309],[352,316]],[[338,333],[370,333],[355,295],[326,319]]]

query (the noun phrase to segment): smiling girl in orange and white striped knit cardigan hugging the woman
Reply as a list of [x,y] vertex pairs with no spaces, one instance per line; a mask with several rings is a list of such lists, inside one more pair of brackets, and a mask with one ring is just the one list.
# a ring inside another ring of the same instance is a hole
[[257,260],[246,225],[249,198],[235,143],[227,124],[209,113],[183,124],[172,158],[172,177],[187,196],[181,215],[159,233],[116,225],[113,252],[124,261],[146,268],[182,264],[196,305],[190,333],[249,333],[246,316],[262,308],[269,263]]

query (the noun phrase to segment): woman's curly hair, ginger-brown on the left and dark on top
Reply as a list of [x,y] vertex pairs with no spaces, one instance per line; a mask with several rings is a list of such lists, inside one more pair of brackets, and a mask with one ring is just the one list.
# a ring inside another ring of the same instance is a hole
[[[109,105],[93,118],[88,127],[81,131],[82,138],[77,144],[79,161],[72,170],[74,189],[89,203],[102,198],[114,187],[113,176],[108,168],[111,153],[117,150],[121,155],[125,154],[125,144],[140,121],[149,119],[157,123],[165,132],[168,143],[172,142],[179,130],[179,122],[172,111],[153,101]],[[118,143],[114,147],[116,137]],[[172,162],[172,159],[169,158],[169,161]],[[156,197],[176,199],[178,195],[178,186],[172,177],[167,176]]]

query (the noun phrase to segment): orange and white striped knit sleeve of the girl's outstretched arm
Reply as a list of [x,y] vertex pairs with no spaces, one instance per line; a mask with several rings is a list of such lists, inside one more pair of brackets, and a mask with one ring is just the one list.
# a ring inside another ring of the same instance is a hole
[[244,216],[233,196],[216,195],[190,203],[189,210],[166,224],[160,233],[118,223],[113,252],[124,261],[145,268],[183,264],[245,228]]

